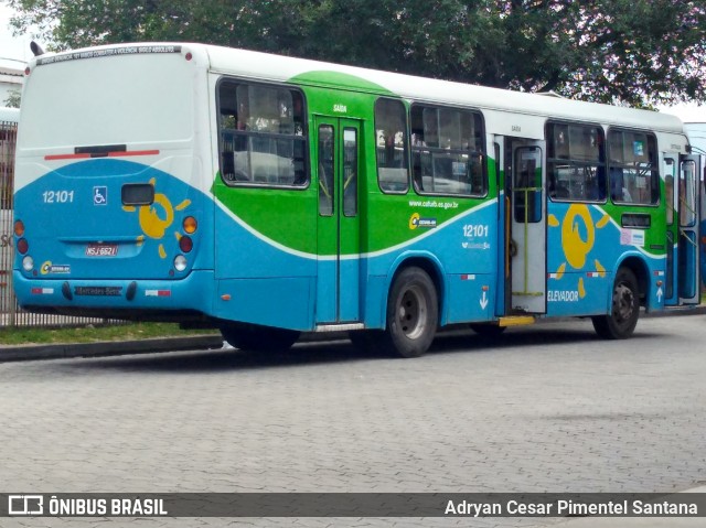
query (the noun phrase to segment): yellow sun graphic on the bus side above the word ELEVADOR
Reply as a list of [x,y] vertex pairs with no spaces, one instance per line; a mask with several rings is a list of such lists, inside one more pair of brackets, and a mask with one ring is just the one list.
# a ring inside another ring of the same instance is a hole
[[[580,270],[586,266],[588,254],[593,249],[596,244],[596,228],[602,229],[610,222],[610,216],[603,215],[603,217],[593,226],[593,219],[588,206],[585,204],[573,204],[569,206],[564,217],[564,222],[560,224],[556,216],[548,216],[549,227],[561,226],[561,249],[564,249],[564,256],[566,262],[561,262],[557,269],[555,276],[557,279],[561,279],[566,272],[567,263],[574,269]],[[579,222],[586,227],[586,239],[581,237],[581,230],[579,228]],[[596,271],[599,277],[606,277],[606,268],[596,259],[593,261]],[[584,285],[584,278],[578,279],[578,295],[580,299],[586,297],[586,287]]]

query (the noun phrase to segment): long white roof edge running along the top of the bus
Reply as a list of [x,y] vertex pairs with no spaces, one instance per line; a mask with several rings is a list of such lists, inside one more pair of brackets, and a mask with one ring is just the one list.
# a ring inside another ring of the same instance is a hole
[[[208,44],[114,44],[63,52],[56,54],[56,56],[64,57],[71,54],[78,56],[78,54],[88,50],[120,50],[136,46],[151,46],[153,49],[164,46],[180,47],[183,54],[191,51],[194,55],[207,57],[210,69],[215,73],[260,80],[286,83],[297,77],[300,83],[389,93],[391,95],[429,103],[443,103],[479,109],[510,111],[526,116],[550,116],[555,119],[651,128],[663,132],[684,133],[684,126],[680,118],[670,114],[578,101],[561,97],[547,97],[542,94],[490,88]],[[42,60],[49,56],[47,54],[34,57],[30,66],[33,67],[38,58]],[[105,55],[95,54],[94,56],[100,57]],[[363,83],[356,82],[356,79]]]

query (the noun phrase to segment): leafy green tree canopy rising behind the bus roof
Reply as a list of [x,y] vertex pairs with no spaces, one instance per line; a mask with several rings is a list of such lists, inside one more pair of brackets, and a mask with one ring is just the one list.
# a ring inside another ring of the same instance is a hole
[[6,0],[61,50],[197,41],[650,106],[706,98],[706,7],[681,0]]

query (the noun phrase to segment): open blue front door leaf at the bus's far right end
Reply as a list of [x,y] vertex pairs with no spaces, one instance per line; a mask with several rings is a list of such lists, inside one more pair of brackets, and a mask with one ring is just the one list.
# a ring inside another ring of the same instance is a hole
[[677,294],[680,304],[699,302],[699,157],[682,155],[678,170]]

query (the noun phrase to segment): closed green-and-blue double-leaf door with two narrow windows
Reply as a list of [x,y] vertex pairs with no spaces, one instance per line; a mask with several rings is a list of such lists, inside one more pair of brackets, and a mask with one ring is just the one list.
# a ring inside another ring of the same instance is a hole
[[361,320],[357,121],[315,118],[314,179],[319,191],[315,322]]

